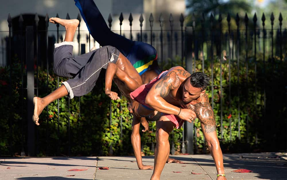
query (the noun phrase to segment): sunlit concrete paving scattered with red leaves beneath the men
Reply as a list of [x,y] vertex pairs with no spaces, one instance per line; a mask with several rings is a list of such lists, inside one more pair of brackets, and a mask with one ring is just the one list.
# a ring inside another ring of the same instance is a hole
[[[161,179],[216,179],[211,155],[170,156],[185,164],[166,163]],[[144,156],[153,165],[153,156]],[[99,169],[109,167],[110,169]],[[287,156],[282,153],[224,154],[227,179],[287,179]],[[87,169],[86,171],[68,171]],[[249,169],[251,173],[230,172]],[[192,174],[201,173],[201,174]],[[152,170],[139,170],[135,157],[38,157],[0,158],[0,179],[150,179]]]

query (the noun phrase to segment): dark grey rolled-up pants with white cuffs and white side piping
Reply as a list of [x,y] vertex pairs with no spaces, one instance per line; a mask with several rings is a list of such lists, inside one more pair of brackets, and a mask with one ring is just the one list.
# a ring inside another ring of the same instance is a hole
[[73,78],[62,83],[72,99],[92,91],[101,69],[106,69],[110,62],[116,63],[119,53],[113,46],[103,46],[73,57],[73,42],[64,41],[55,44],[53,70],[58,76]]

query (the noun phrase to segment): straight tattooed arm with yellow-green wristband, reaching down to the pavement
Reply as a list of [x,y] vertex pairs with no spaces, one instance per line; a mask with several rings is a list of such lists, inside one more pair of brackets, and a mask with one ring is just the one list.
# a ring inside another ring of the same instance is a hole
[[[204,105],[204,107],[201,104],[194,105],[195,107],[193,106],[193,110],[195,111],[197,118],[200,120],[203,135],[213,157],[217,174],[224,174],[223,156],[216,134],[214,112],[209,103],[204,103]],[[192,108],[191,105],[188,107]],[[226,178],[219,176],[217,179],[225,180]]]

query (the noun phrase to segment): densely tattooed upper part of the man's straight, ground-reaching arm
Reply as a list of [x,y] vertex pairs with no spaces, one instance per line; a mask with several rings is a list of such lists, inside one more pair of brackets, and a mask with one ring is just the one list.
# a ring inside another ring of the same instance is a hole
[[204,126],[205,133],[212,133],[216,131],[214,113],[209,103],[204,107],[201,104],[190,105],[188,107],[196,113],[200,123]]

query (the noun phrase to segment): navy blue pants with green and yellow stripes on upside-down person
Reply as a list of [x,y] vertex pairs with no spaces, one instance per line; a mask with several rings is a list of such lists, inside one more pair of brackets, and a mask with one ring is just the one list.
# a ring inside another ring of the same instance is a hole
[[110,31],[93,0],[74,1],[86,22],[90,34],[101,46],[110,45],[116,47],[127,57],[140,75],[147,70],[155,70],[158,74],[161,72],[156,61],[156,49],[152,45],[131,41]]

